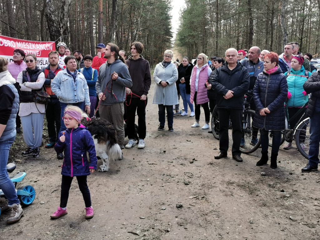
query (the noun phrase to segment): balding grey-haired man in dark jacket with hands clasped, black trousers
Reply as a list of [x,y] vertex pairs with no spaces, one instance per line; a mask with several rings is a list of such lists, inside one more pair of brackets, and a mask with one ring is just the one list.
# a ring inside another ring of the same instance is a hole
[[209,83],[217,93],[217,107],[219,112],[219,143],[220,153],[215,159],[227,157],[229,148],[229,118],[232,124],[232,158],[242,162],[240,142],[242,138],[241,118],[244,104],[244,94],[249,89],[250,76],[247,68],[237,60],[238,51],[229,48],[226,51],[226,63],[210,75]]

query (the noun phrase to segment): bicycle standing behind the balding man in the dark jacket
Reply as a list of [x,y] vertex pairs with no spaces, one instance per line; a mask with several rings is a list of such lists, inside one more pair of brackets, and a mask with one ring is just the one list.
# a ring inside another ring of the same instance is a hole
[[[249,92],[248,92],[249,93]],[[242,113],[242,132],[244,133],[244,146],[240,147],[241,153],[249,154],[254,152],[260,147],[260,132],[258,131],[257,143],[252,143],[253,127],[252,117],[254,117],[255,111],[250,109],[250,104],[247,102],[247,95],[244,95],[244,107]],[[229,129],[232,129],[231,121],[229,119]],[[218,108],[215,106],[211,116],[211,130],[215,139],[219,140],[219,113]]]

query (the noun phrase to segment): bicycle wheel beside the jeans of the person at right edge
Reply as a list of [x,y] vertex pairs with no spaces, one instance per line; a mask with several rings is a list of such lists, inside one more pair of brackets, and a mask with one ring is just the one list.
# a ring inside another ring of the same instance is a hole
[[298,151],[305,158],[309,159],[309,143],[310,143],[310,118],[306,118],[300,122],[295,130],[294,140]]

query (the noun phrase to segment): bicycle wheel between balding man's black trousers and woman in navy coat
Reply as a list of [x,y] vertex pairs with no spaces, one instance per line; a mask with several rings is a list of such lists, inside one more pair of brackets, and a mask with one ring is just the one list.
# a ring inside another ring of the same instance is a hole
[[244,123],[242,123],[243,139],[240,151],[245,154],[252,153],[260,147],[260,131],[252,126],[254,115],[255,112],[253,110],[244,110]]

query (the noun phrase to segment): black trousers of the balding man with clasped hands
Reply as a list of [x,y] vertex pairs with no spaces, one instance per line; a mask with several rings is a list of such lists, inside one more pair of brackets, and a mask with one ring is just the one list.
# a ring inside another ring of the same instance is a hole
[[219,111],[219,143],[220,152],[227,154],[229,148],[229,118],[232,124],[232,156],[241,155],[240,143],[242,138],[241,122],[243,109],[218,108]]

